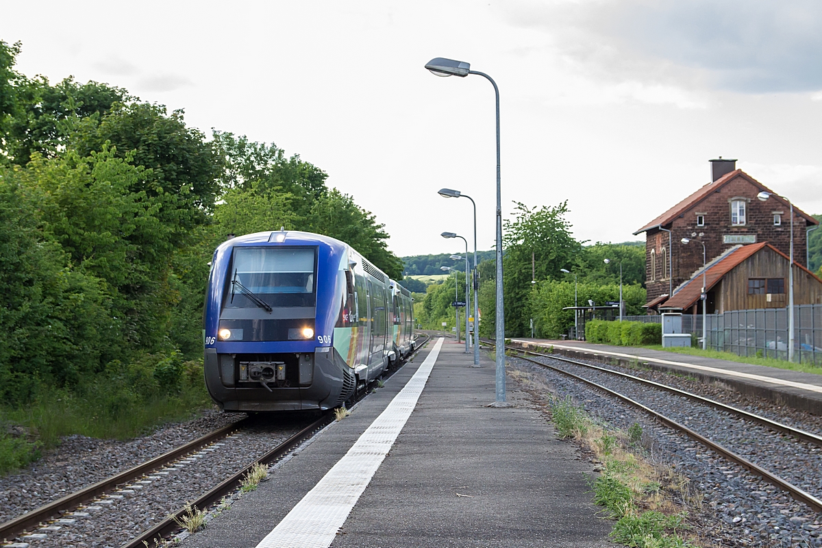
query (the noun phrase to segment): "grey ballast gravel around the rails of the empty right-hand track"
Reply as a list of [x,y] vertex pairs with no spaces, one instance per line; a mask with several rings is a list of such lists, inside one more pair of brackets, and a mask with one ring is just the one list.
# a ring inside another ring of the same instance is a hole
[[[550,363],[634,398],[710,440],[723,444],[727,449],[777,472],[783,479],[792,481],[811,494],[822,494],[822,449],[776,435],[763,426],[741,421],[727,412],[639,385],[635,381],[618,380],[615,375],[548,357],[530,358]],[[552,386],[554,395],[570,397],[597,420],[622,430],[635,423],[642,426],[643,444],[649,448],[648,458],[675,467],[678,473],[689,477],[691,485],[704,495],[701,510],[704,515],[700,521],[713,524],[699,532],[704,541],[713,543],[713,546],[822,546],[820,516],[744,468],[727,462],[686,435],[658,424],[617,398],[566,375],[515,357],[510,357],[509,363]],[[599,362],[592,363],[603,366]],[[607,368],[621,369],[617,366]],[[741,396],[732,390],[702,385],[681,376],[636,369],[625,372],[745,408],[746,411],[806,431],[820,432],[820,417],[780,408],[773,403]]]

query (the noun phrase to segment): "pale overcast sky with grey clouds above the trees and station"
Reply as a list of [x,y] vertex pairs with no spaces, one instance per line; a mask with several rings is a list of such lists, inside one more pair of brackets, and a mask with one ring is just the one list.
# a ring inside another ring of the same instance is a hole
[[[575,236],[632,233],[742,168],[822,212],[822,2],[28,2],[2,0],[18,69],[74,75],[184,108],[187,122],[275,142],[376,214],[400,256],[494,240],[492,86],[503,213],[568,200]],[[461,242],[460,242],[461,243]]]

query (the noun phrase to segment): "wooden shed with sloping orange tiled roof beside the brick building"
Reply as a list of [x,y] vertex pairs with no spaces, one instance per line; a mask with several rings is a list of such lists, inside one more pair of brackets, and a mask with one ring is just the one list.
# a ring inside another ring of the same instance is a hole
[[[787,306],[790,260],[768,242],[735,246],[712,260],[705,271],[707,312],[784,308]],[[703,269],[677,287],[660,311],[702,312]],[[796,261],[793,263],[795,305],[822,303],[822,279]]]

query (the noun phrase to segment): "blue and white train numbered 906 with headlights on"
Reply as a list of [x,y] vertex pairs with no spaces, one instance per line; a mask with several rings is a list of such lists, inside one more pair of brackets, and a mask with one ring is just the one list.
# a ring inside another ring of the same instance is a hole
[[339,407],[413,351],[412,301],[332,237],[235,237],[211,264],[205,385],[227,412]]

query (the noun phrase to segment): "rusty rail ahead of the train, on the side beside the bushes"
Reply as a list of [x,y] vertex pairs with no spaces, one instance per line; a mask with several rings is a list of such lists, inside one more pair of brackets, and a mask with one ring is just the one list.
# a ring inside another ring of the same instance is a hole
[[129,468],[128,470],[119,472],[114,476],[107,477],[106,479],[98,481],[93,485],[84,487],[83,489],[77,490],[62,497],[61,499],[44,504],[38,509],[31,510],[30,512],[26,512],[17,518],[7,521],[6,523],[2,523],[0,524],[0,538],[11,538],[16,536],[17,533],[27,530],[28,527],[37,525],[38,523],[44,522],[49,518],[53,518],[58,515],[61,510],[74,509],[88,500],[93,500],[97,495],[101,495],[109,490],[112,490],[118,485],[135,480],[138,477],[143,477],[145,472],[171,463],[184,454],[191,453],[196,449],[200,449],[204,445],[210,444],[215,440],[219,440],[220,438],[231,434],[233,431],[239,430],[245,426],[247,421],[248,417],[233,422],[228,426],[223,426],[222,428],[203,435],[196,440],[188,442],[187,444],[182,444],[168,453],[161,454],[159,457],[151,458],[150,460],[145,461],[145,463],[138,464],[136,467]]

